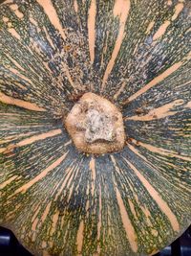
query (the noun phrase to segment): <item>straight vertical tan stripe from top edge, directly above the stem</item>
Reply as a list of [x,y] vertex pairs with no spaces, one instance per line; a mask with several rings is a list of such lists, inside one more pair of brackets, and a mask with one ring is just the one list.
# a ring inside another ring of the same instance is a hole
[[91,63],[95,60],[95,39],[96,39],[96,0],[91,1],[88,12],[88,42]]

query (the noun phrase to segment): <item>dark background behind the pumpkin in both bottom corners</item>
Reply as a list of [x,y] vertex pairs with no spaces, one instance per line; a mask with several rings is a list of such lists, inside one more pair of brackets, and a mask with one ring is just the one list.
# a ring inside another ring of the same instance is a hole
[[[18,243],[13,233],[0,226],[0,256],[32,256]],[[191,226],[174,243],[155,256],[191,256]]]

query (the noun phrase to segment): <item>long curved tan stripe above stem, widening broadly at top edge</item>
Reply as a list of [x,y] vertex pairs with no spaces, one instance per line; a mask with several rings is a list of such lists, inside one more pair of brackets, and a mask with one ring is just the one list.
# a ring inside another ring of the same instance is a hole
[[108,80],[108,77],[115,65],[115,61],[120,50],[120,46],[122,44],[124,30],[125,30],[125,23],[130,11],[130,0],[116,0],[114,6],[114,16],[119,16],[119,30],[117,35],[116,44],[114,47],[114,51],[112,53],[112,57],[109,60],[109,63],[106,67],[105,74],[103,76],[101,89],[103,90],[105,87],[105,83]]

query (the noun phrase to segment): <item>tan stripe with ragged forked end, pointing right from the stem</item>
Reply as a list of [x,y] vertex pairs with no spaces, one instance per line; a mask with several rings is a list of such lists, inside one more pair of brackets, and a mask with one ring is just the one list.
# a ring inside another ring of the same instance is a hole
[[151,121],[155,119],[165,118],[167,116],[176,115],[179,111],[170,111],[170,109],[176,107],[177,105],[183,105],[183,100],[176,100],[170,104],[159,106],[158,108],[154,108],[148,112],[146,115],[136,115],[129,116],[124,118],[124,120],[134,120],[134,121]]

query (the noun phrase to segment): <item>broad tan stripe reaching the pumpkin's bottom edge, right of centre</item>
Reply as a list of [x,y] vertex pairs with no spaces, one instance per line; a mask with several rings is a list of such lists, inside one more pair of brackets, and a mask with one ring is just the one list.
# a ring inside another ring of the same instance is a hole
[[137,244],[137,236],[136,236],[136,231],[134,229],[134,226],[132,224],[132,222],[129,219],[129,216],[127,214],[124,202],[120,196],[120,193],[116,187],[116,192],[117,192],[117,204],[120,210],[120,216],[121,216],[121,220],[123,223],[123,227],[125,229],[126,235],[127,235],[127,239],[129,241],[129,244],[131,245],[131,248],[134,252],[138,251],[138,244]]

